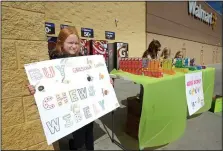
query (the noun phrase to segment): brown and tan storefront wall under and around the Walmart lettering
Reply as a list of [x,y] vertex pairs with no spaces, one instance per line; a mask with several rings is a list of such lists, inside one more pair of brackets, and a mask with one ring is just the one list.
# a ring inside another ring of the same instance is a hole
[[[205,2],[197,2],[207,12],[214,13]],[[147,46],[152,39],[160,41],[162,48],[169,47],[171,56],[179,50],[194,57],[197,64],[222,62],[222,20],[211,26],[189,15],[188,2],[147,2]],[[203,55],[201,53],[203,50]]]

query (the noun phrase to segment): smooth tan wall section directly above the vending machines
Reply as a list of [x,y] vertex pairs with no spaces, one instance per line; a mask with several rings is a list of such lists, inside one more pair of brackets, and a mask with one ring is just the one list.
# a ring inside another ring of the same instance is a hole
[[47,2],[45,19],[56,24],[56,35],[61,23],[74,25],[78,31],[93,28],[94,39],[99,40],[105,39],[106,30],[114,31],[115,41],[129,43],[130,56],[141,56],[146,49],[145,7],[145,2]]

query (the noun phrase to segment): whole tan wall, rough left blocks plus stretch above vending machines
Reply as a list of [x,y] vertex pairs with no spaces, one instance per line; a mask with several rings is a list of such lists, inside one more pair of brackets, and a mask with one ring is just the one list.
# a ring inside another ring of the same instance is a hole
[[[118,19],[117,27],[115,18]],[[53,149],[46,144],[34,98],[29,96],[26,63],[48,59],[44,22],[104,31],[129,43],[129,55],[146,49],[145,2],[2,2],[2,149]],[[113,42],[113,41],[111,41]],[[29,54],[28,54],[29,53]]]

